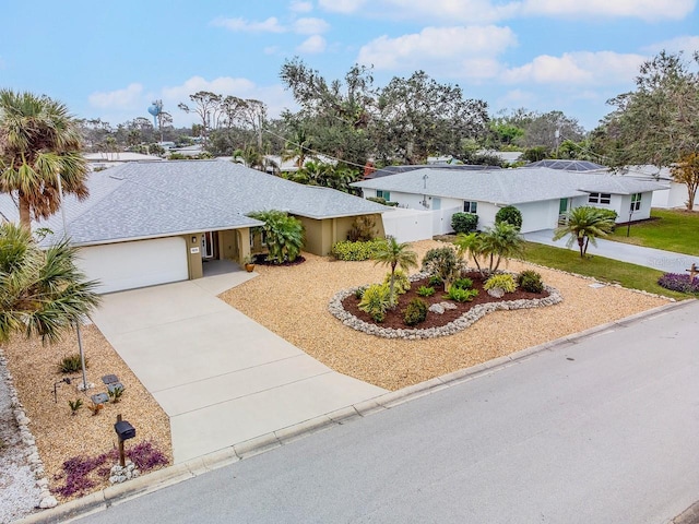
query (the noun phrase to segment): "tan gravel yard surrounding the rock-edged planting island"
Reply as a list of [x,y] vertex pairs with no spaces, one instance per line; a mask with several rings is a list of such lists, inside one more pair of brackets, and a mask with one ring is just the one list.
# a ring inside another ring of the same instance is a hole
[[[443,243],[427,240],[425,252]],[[423,341],[384,340],[344,326],[328,312],[340,289],[377,283],[387,269],[371,261],[341,262],[304,253],[291,267],[256,267],[260,276],[221,298],[327,366],[366,382],[398,390],[519,349],[667,303],[663,298],[605,286],[561,272],[510,261],[507,269],[538,271],[564,296],[557,306],[489,313],[467,330]]]

